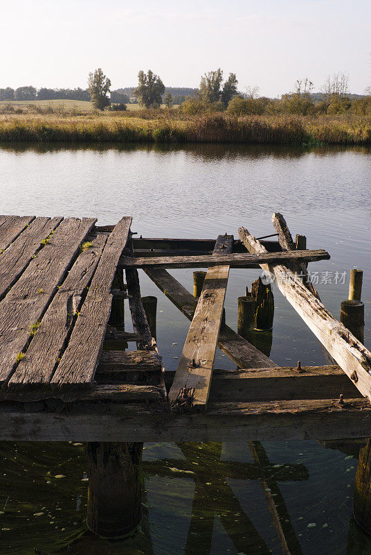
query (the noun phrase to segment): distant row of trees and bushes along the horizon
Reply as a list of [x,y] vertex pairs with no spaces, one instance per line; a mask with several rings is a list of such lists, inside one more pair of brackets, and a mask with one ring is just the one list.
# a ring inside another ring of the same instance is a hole
[[[249,87],[245,92],[238,90],[236,74],[230,73],[224,79],[220,68],[201,76],[199,89],[165,89],[161,78],[152,70],[138,73],[137,87],[111,91],[111,80],[101,68],[89,74],[87,89],[35,89],[35,87],[7,87],[0,89],[0,101],[33,101],[71,99],[91,101],[97,110],[111,107],[113,110],[125,110],[127,103],[137,102],[143,108],[159,108],[162,104],[170,109],[179,105],[185,114],[227,111],[234,115],[248,114],[342,114],[371,113],[371,90],[369,96],[354,98],[348,89],[349,77],[339,72],[329,76],[314,94],[314,83],[308,78],[298,79],[293,91],[282,94],[280,99],[259,96],[258,87]],[[191,94],[173,95],[171,91],[187,91]]]

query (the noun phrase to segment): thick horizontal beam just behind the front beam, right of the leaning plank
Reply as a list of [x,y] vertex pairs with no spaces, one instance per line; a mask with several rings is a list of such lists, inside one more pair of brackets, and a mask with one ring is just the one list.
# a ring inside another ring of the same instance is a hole
[[[165,372],[170,387],[174,370]],[[209,402],[251,402],[301,399],[356,399],[361,397],[340,366],[305,366],[296,368],[246,368],[212,373]]]

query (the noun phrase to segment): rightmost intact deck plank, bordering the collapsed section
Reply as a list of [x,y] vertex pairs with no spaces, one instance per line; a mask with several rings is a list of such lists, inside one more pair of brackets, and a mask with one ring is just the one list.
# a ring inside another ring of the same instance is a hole
[[131,217],[124,217],[107,239],[69,344],[51,379],[54,387],[91,384],[111,312],[111,286],[131,223]]

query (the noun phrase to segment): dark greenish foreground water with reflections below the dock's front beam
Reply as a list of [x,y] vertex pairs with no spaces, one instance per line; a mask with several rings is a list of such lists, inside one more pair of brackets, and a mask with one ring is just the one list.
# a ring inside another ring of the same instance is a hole
[[[363,445],[343,441],[325,442],[326,449],[318,446],[330,463],[318,483],[298,461],[305,453],[298,457],[284,445],[282,455],[276,451],[271,459],[270,445],[260,442],[238,447],[149,444],[141,529],[134,538],[108,541],[94,536],[85,524],[86,458],[81,444],[1,443],[0,553],[299,555],[324,553],[321,549],[328,544],[332,554],[365,555],[371,553],[371,543],[352,518],[352,499],[347,503],[345,496],[336,504],[332,495],[344,477],[339,463],[345,461],[347,477],[354,475],[360,448],[356,483],[363,479],[365,484],[367,475],[370,490],[370,441]],[[284,462],[289,456],[293,461]],[[325,524],[320,513],[313,519],[308,497],[293,495],[304,492],[304,484],[321,486],[323,495],[330,495]],[[370,522],[370,511],[365,516]],[[343,520],[343,527],[337,522],[334,528],[336,519]]]

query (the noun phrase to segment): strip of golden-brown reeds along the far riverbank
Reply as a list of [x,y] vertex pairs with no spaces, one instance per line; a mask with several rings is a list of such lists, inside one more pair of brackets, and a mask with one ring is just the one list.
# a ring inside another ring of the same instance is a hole
[[370,116],[180,116],[134,114],[1,114],[0,142],[371,144]]

